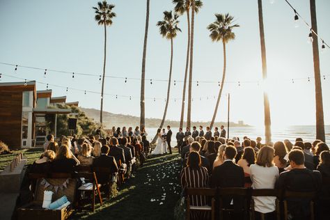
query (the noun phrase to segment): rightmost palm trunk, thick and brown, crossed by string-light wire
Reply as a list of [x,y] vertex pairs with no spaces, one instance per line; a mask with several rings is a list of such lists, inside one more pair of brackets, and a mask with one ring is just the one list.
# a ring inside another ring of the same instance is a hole
[[[310,4],[311,4],[312,29],[315,31],[315,33],[317,33],[315,0],[311,0]],[[313,59],[314,59],[314,77],[315,77],[316,139],[325,141],[319,45],[317,42],[317,36],[315,36],[314,33],[313,33]]]

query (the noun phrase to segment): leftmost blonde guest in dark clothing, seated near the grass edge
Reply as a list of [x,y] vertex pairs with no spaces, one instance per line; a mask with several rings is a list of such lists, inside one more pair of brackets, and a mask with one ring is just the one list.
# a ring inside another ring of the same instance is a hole
[[41,158],[37,159],[31,165],[30,173],[49,173],[51,171],[51,162],[55,158],[53,150],[46,150],[42,153]]

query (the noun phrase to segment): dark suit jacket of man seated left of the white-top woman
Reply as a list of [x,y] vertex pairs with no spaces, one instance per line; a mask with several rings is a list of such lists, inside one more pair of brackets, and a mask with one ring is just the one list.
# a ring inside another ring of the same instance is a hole
[[[216,166],[212,173],[212,187],[244,187],[243,168],[232,161],[225,161],[220,166]],[[234,209],[242,207],[242,198],[223,198],[223,206],[230,207],[230,202],[234,200]]]

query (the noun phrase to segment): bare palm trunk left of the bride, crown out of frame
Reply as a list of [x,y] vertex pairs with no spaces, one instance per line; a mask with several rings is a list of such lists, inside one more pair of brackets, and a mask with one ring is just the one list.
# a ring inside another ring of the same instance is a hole
[[149,27],[149,6],[150,6],[150,0],[147,0],[146,30],[144,31],[142,71],[141,71],[140,127],[145,127],[146,126],[146,122],[145,122],[144,84],[145,84],[145,80],[146,80],[146,54],[147,54],[147,40],[148,40],[148,27]]

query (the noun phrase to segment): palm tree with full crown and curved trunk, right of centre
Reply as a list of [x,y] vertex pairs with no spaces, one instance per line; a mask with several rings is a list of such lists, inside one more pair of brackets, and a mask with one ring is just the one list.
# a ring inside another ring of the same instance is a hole
[[230,16],[228,13],[226,15],[222,14],[215,14],[216,20],[215,22],[211,23],[209,26],[207,26],[207,29],[209,29],[210,38],[213,42],[222,41],[223,45],[223,73],[222,73],[222,80],[221,80],[221,86],[218,94],[217,104],[215,105],[210,129],[212,129],[214,125],[214,120],[217,117],[219,102],[221,99],[221,93],[223,89],[223,84],[226,79],[226,43],[228,43],[230,40],[235,40],[235,33],[233,33],[233,28],[239,27],[238,24],[232,24],[234,17]]

